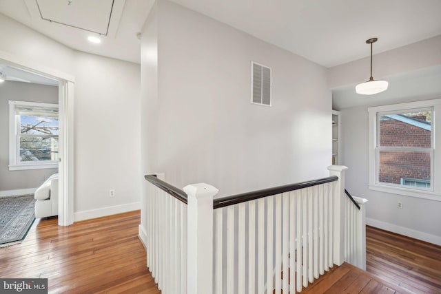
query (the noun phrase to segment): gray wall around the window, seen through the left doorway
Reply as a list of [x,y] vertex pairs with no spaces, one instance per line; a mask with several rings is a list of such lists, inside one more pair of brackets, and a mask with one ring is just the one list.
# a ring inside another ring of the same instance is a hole
[[0,83],[0,191],[36,188],[58,169],[9,171],[9,100],[58,104],[58,87],[14,81]]

